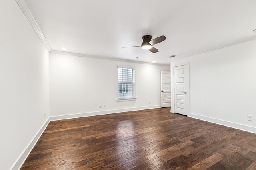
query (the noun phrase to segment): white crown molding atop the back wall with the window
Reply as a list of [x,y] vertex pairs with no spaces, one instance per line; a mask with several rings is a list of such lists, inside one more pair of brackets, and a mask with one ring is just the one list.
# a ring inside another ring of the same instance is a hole
[[120,59],[115,57],[102,57],[102,56],[96,56],[96,55],[87,55],[87,54],[81,54],[81,53],[72,53],[72,52],[66,52],[66,51],[57,51],[52,50],[50,53],[54,54],[62,54],[62,55],[73,55],[73,56],[79,56],[79,57],[88,57],[93,59],[104,59],[104,60],[112,60],[112,61],[123,61],[123,62],[129,62],[129,63],[138,63],[138,64],[149,64],[149,65],[156,65],[156,66],[170,66],[170,64],[157,64],[157,63],[149,63],[144,61],[135,61],[135,60],[128,60],[128,59]]

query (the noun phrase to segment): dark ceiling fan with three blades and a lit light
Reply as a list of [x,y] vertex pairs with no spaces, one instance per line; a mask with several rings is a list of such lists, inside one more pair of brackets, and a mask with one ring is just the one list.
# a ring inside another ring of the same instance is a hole
[[[152,47],[154,44],[161,43],[162,41],[166,40],[166,37],[164,35],[157,37],[155,39],[152,39],[151,35],[144,35],[142,37],[143,42],[141,46],[131,46],[131,47],[142,47],[142,49],[149,50],[152,53],[158,52],[158,49]],[[152,40],[151,40],[152,39]],[[122,48],[128,48],[128,47],[122,47]]]

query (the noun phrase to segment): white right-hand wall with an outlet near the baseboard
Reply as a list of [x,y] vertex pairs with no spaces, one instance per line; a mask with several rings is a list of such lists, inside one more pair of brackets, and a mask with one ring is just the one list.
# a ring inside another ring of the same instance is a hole
[[189,62],[190,117],[256,133],[255,47],[248,41],[171,62]]

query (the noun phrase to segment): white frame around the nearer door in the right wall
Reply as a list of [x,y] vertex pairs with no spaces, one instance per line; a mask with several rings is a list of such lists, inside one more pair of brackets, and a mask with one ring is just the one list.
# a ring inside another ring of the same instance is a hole
[[188,84],[188,88],[186,90],[187,92],[187,95],[188,95],[188,104],[186,104],[188,107],[188,109],[186,110],[186,115],[188,117],[190,117],[190,83],[189,83],[189,62],[185,62],[185,63],[177,63],[177,64],[172,64],[171,62],[171,112],[172,113],[175,113],[175,108],[174,108],[174,104],[175,104],[175,101],[174,101],[174,67],[177,67],[177,66],[184,66],[184,65],[187,65],[187,69],[186,69],[186,82]]

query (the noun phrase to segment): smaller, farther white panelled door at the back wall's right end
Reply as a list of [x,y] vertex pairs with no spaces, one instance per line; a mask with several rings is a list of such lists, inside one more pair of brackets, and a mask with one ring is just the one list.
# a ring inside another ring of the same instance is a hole
[[161,71],[161,107],[171,107],[170,71]]

